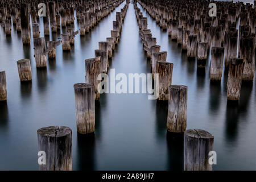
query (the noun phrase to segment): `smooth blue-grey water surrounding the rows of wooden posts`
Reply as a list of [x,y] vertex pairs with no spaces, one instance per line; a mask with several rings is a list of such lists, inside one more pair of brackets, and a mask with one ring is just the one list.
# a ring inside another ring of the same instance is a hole
[[[15,27],[11,38],[0,28],[0,69],[6,71],[8,94],[7,102],[0,105],[0,169],[37,170],[36,130],[52,125],[68,126],[73,131],[73,170],[183,169],[183,139],[166,131],[168,105],[148,100],[147,94],[102,94],[96,103],[95,134],[83,137],[76,133],[73,84],[85,81],[84,60],[94,57],[98,42],[110,36],[115,11],[84,38],[77,35],[71,52],[63,52],[58,46],[56,60],[49,60],[47,69],[36,69],[34,46],[23,46]],[[209,60],[205,70],[198,70],[196,61],[188,61],[187,53],[168,38],[168,32],[161,31],[142,12],[161,50],[168,52],[167,61],[174,63],[172,84],[188,86],[187,129],[204,129],[214,135],[214,169],[255,170],[255,81],[242,84],[237,105],[228,104],[227,74],[220,84],[211,83]],[[74,26],[75,30],[79,28],[76,22]],[[42,19],[40,32],[43,36]],[[46,40],[59,36],[60,32]],[[31,84],[19,81],[16,61],[24,58],[31,60]],[[150,73],[132,4],[110,68],[115,68],[116,74]]]

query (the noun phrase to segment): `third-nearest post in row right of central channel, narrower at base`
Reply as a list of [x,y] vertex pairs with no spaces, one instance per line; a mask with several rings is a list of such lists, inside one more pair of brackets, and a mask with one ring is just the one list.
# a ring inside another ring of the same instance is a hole
[[159,97],[160,101],[168,101],[168,87],[172,84],[173,63],[156,61],[156,73],[159,73]]

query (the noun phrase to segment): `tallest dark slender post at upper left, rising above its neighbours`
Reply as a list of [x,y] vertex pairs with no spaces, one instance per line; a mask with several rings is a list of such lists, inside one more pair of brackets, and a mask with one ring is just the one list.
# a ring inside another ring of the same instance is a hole
[[22,43],[30,44],[30,5],[26,3],[20,4],[20,23],[22,28]]

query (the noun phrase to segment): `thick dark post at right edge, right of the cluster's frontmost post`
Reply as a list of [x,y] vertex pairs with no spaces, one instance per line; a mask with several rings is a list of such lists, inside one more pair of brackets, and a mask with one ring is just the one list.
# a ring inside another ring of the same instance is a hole
[[253,36],[240,39],[240,56],[243,59],[242,80],[253,81],[255,69],[255,38]]

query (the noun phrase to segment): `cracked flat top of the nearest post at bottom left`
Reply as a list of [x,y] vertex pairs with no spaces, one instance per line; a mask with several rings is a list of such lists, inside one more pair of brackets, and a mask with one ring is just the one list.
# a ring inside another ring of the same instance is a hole
[[48,126],[38,129],[38,134],[44,137],[64,137],[72,133],[67,126]]

